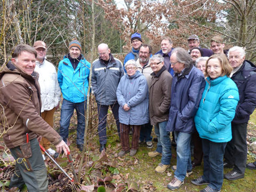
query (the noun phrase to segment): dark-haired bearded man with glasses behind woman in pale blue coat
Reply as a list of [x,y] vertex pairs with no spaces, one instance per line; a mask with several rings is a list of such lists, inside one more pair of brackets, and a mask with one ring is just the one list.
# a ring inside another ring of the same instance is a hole
[[[138,70],[146,77],[148,87],[150,86],[150,81],[151,81],[150,74],[153,73],[153,70],[151,69],[148,63],[151,52],[152,52],[152,48],[150,45],[142,44],[139,50],[139,59],[137,60]],[[141,125],[141,129],[140,129],[139,143],[144,142],[145,140],[148,148],[153,147],[152,138],[150,136],[152,132],[152,127],[153,126],[150,124],[150,122],[148,122],[144,125]]]

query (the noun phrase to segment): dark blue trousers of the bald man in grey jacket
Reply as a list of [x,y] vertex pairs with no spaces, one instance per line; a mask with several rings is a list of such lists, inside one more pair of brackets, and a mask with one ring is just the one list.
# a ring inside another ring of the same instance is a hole
[[[120,138],[120,126],[119,126],[119,116],[118,116],[118,110],[119,110],[119,104],[116,101],[113,105],[109,105],[112,113],[114,115],[114,118],[116,120],[116,126],[117,126],[117,132]],[[98,133],[99,133],[99,140],[100,144],[106,144],[107,143],[107,115],[108,115],[108,105],[100,105],[97,103],[98,107],[98,116],[99,116],[99,125],[98,125]]]

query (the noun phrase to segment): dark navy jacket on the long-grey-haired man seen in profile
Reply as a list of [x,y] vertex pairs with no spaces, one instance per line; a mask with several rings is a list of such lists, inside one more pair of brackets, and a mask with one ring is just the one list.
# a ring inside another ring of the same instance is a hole
[[204,86],[204,75],[194,66],[185,69],[180,77],[177,74],[173,76],[167,131],[191,133],[195,130],[194,116],[196,115]]

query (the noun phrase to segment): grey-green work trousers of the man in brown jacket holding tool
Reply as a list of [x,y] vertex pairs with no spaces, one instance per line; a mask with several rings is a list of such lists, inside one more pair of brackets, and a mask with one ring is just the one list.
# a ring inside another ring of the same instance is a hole
[[10,149],[16,165],[9,189],[22,189],[26,184],[28,191],[45,192],[48,189],[47,171],[37,139],[30,140],[30,148],[32,156],[26,159],[21,157],[20,147]]

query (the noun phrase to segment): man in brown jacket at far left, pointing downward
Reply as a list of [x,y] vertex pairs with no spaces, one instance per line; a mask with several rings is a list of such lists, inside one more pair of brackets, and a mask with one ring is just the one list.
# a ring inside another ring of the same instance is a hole
[[14,47],[11,62],[0,71],[1,133],[16,163],[9,188],[47,191],[48,181],[37,137],[41,135],[67,154],[68,146],[41,114],[38,74],[34,72],[37,53],[29,45]]

